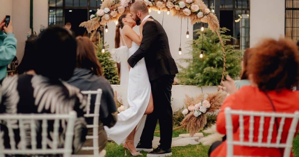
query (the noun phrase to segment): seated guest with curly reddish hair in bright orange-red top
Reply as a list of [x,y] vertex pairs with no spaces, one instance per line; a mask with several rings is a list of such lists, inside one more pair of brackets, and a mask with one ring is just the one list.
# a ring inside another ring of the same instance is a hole
[[[226,134],[225,107],[236,110],[256,112],[286,112],[299,111],[299,92],[292,91],[292,87],[299,82],[299,51],[295,43],[287,39],[266,39],[256,47],[248,62],[247,72],[251,86],[243,86],[239,90],[230,88],[217,116],[217,131]],[[231,82],[231,80],[228,80]],[[239,141],[239,118],[232,115],[233,139]],[[254,138],[258,141],[259,117],[254,118]],[[274,123],[271,142],[276,142],[280,118]],[[286,142],[292,119],[286,118],[281,143]],[[263,142],[267,141],[270,118],[265,118]],[[297,126],[298,130],[299,125]],[[248,141],[249,117],[244,117],[244,141]],[[297,135],[297,132],[294,136]],[[218,147],[217,147],[218,145]],[[226,156],[227,143],[215,142],[210,147],[210,156]],[[283,156],[283,149],[266,147],[247,147],[234,145],[236,156]],[[292,153],[292,152],[291,152]],[[292,154],[291,154],[292,156]]]

